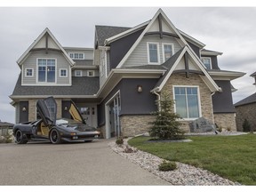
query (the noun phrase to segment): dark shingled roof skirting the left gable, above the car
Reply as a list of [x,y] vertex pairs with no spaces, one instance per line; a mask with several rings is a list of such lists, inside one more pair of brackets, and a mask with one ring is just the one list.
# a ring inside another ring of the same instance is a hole
[[71,86],[21,86],[21,75],[10,96],[40,96],[40,95],[93,95],[100,89],[99,77],[72,76]]

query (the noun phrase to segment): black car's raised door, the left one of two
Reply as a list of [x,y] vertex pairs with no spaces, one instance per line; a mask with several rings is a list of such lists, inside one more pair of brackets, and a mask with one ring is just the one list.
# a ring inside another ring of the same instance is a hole
[[56,124],[57,103],[53,97],[38,100],[36,103],[36,108],[39,115],[43,119],[45,126],[52,126]]

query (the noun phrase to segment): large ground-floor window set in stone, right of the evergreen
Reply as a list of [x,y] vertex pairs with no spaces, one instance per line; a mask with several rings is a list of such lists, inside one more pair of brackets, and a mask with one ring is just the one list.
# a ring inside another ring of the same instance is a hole
[[174,87],[176,113],[184,119],[193,119],[200,116],[198,87]]

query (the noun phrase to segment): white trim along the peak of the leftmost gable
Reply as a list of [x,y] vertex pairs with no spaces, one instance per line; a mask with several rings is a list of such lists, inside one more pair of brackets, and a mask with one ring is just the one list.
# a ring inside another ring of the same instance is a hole
[[74,65],[75,65],[75,61],[72,60],[72,59],[69,57],[68,53],[63,49],[63,47],[61,46],[61,44],[60,44],[60,43],[57,41],[57,39],[52,35],[52,32],[49,30],[49,28],[45,28],[44,31],[40,34],[40,36],[38,36],[38,37],[36,38],[36,40],[34,41],[34,43],[31,44],[31,45],[28,47],[27,51],[24,52],[24,53],[20,56],[19,60],[17,60],[18,65],[19,65],[19,66],[22,65],[22,61],[28,57],[28,54],[29,54],[29,52],[31,51],[31,49],[33,49],[33,47],[40,41],[40,39],[41,39],[46,33],[48,33],[49,36],[52,37],[53,41],[55,42],[55,44],[58,45],[58,47],[60,48],[61,52],[63,52],[64,56],[67,58],[67,60],[68,60],[68,62],[70,63],[70,65],[71,65],[71,66],[74,66]]

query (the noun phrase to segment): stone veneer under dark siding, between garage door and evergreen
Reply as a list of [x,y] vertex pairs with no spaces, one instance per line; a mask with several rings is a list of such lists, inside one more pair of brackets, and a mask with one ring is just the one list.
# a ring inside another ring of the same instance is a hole
[[120,116],[121,129],[123,136],[135,136],[141,133],[148,132],[155,116],[150,115],[132,115],[132,116]]

